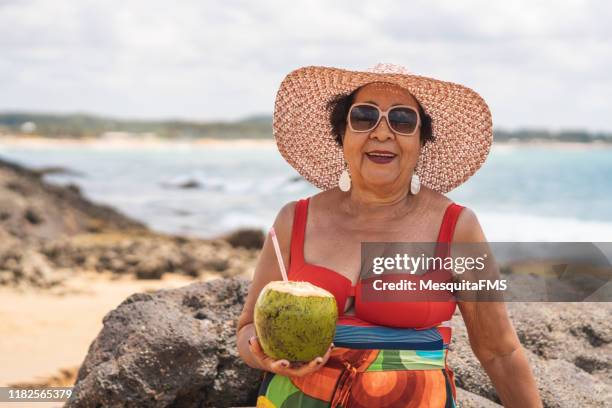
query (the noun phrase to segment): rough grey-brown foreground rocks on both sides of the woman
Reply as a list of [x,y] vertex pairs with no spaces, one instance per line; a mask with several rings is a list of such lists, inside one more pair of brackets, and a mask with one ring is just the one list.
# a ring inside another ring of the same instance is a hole
[[[219,279],[128,298],[105,317],[69,406],[254,405],[259,373],[239,359],[234,335],[247,288],[243,279]],[[612,305],[508,308],[545,407],[611,406]],[[454,321],[450,365],[459,406],[498,407],[461,317]]]

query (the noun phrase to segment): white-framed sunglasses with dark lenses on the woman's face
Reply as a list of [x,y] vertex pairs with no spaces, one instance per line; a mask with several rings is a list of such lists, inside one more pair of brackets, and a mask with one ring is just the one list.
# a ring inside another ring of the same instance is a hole
[[378,126],[381,118],[398,135],[412,136],[421,125],[419,112],[412,106],[396,105],[381,111],[370,103],[356,103],[349,109],[348,125],[353,132],[370,132]]

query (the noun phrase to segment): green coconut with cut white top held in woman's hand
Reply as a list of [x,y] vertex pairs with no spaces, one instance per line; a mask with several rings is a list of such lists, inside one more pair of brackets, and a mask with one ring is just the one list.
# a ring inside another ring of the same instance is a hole
[[334,296],[308,282],[272,281],[255,303],[259,343],[276,360],[305,362],[323,356],[334,339],[337,319]]

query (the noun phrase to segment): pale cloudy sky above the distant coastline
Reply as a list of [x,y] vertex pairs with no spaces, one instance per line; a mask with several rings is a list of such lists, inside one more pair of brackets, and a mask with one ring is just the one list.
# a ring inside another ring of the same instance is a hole
[[0,0],[0,111],[235,120],[307,65],[466,85],[497,128],[612,131],[612,3]]

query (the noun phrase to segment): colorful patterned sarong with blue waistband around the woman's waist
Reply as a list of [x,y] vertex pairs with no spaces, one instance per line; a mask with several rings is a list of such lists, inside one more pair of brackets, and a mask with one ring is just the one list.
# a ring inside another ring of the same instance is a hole
[[265,372],[257,407],[455,407],[450,336],[450,322],[396,329],[342,316],[325,366],[300,378]]

